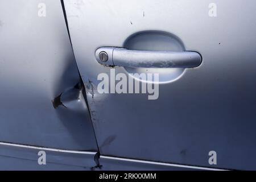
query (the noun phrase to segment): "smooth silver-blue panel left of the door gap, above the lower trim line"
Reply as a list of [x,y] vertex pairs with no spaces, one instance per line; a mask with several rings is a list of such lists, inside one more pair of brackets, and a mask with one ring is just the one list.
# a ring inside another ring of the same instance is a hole
[[60,1],[0,2],[0,141],[97,151],[86,105],[52,100],[80,82]]

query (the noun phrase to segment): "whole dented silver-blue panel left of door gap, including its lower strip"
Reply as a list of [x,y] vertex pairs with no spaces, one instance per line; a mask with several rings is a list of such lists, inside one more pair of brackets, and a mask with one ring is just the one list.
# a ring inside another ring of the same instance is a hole
[[0,1],[0,169],[96,166],[79,83],[61,2]]

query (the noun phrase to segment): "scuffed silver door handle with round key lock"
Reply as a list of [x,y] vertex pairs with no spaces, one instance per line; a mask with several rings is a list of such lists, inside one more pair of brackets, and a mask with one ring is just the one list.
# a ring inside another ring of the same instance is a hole
[[131,68],[195,68],[201,55],[193,51],[137,51],[119,47],[101,47],[96,50],[100,64]]

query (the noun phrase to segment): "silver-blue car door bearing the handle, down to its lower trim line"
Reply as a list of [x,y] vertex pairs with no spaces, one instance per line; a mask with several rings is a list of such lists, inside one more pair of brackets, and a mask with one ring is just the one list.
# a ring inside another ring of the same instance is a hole
[[64,4],[101,156],[256,169],[255,1]]

